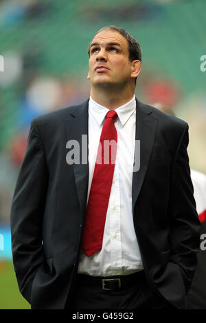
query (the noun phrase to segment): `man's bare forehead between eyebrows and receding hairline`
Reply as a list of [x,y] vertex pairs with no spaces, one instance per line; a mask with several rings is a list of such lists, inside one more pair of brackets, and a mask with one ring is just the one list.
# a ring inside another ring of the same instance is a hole
[[122,47],[128,48],[126,38],[115,30],[102,30],[102,32],[99,32],[94,36],[90,45],[92,45],[92,43],[100,43],[100,45],[105,45],[106,43],[119,43]]

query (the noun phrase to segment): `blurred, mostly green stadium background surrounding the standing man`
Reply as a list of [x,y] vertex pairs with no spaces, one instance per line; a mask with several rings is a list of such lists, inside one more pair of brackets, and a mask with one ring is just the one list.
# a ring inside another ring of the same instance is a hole
[[0,309],[30,308],[10,245],[10,204],[30,121],[88,98],[87,47],[104,25],[137,38],[137,98],[188,122],[190,166],[206,173],[205,12],[205,0],[0,1]]

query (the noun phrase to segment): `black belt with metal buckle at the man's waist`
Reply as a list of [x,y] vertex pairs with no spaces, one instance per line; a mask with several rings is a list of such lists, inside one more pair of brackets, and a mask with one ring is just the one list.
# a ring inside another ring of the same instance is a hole
[[144,270],[138,271],[135,274],[111,277],[95,277],[78,274],[78,283],[80,285],[100,287],[104,291],[115,291],[137,285],[138,282],[142,282],[144,276]]

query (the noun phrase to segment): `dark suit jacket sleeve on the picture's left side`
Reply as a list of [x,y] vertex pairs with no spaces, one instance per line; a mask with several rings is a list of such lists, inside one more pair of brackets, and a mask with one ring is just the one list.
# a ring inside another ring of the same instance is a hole
[[32,281],[43,263],[42,222],[47,177],[43,144],[32,120],[10,215],[14,270],[19,289],[28,302]]

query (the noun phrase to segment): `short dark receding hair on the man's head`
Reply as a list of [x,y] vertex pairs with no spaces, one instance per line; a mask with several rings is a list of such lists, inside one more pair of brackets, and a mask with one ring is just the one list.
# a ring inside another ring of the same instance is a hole
[[[126,38],[128,42],[128,52],[129,52],[130,61],[140,60],[141,62],[141,47],[138,41],[129,32],[126,32],[126,30],[124,30],[123,28],[116,27],[115,25],[109,25],[98,30],[96,34],[99,34],[99,32],[102,32],[103,30],[115,30],[116,32],[119,32],[119,34],[121,34],[124,38]],[[90,44],[91,43],[89,43],[89,49],[90,49]],[[88,49],[88,54],[89,54],[89,49]]]

